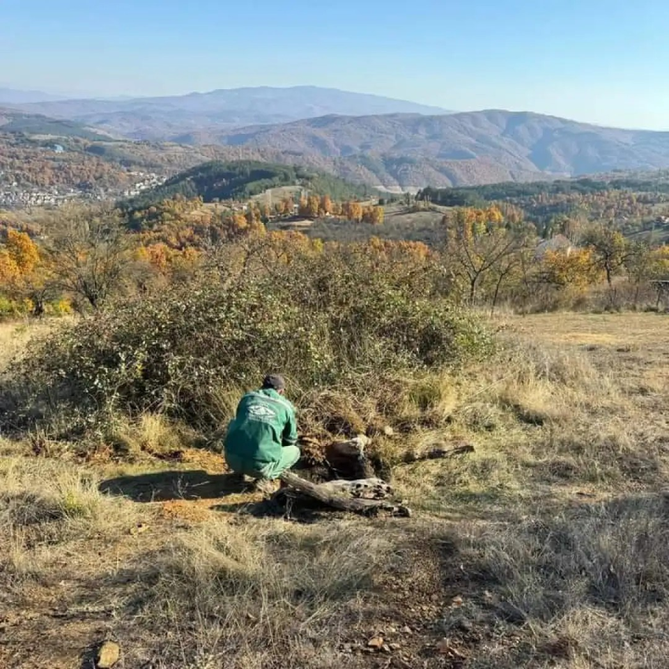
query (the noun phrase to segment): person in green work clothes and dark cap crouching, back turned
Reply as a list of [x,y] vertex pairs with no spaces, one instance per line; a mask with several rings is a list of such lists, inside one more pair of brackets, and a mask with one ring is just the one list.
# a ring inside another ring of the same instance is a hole
[[266,376],[260,390],[241,399],[225,438],[229,468],[240,477],[256,479],[265,491],[271,488],[267,482],[278,479],[300,459],[295,407],[285,392],[282,376]]

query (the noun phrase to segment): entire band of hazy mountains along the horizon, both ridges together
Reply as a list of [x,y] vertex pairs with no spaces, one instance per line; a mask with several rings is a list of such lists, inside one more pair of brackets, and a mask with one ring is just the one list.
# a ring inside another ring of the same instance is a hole
[[[369,109],[375,113],[366,113]],[[300,165],[389,190],[669,167],[669,132],[601,128],[529,112],[437,111],[311,86],[236,89],[14,105],[4,115],[0,109],[0,133],[62,133],[91,141],[105,141],[100,135],[106,133],[120,140],[167,139],[180,145],[180,166],[191,166],[195,155],[206,153],[210,160]],[[254,122],[243,125],[249,119]],[[174,150],[174,144],[154,143],[152,160]],[[109,148],[104,151],[107,155]]]

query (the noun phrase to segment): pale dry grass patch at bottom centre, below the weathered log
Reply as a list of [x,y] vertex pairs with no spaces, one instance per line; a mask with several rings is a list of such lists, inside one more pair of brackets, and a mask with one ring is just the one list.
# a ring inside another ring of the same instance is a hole
[[213,521],[155,557],[140,620],[169,630],[167,666],[192,644],[198,666],[330,666],[323,654],[339,656],[360,599],[392,566],[388,553],[383,535],[353,523]]

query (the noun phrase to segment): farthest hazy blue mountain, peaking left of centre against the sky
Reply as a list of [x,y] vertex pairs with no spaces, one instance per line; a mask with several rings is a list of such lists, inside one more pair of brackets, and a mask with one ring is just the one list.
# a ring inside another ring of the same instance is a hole
[[55,100],[17,103],[24,112],[96,125],[130,139],[182,141],[197,134],[206,141],[232,126],[289,123],[327,114],[446,114],[445,109],[378,95],[318,86],[268,86],[130,100]]

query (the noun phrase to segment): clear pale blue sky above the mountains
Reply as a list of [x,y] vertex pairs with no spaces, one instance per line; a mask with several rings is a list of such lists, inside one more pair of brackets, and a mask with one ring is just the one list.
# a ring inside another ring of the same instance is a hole
[[669,130],[667,0],[0,0],[0,86],[311,84]]

